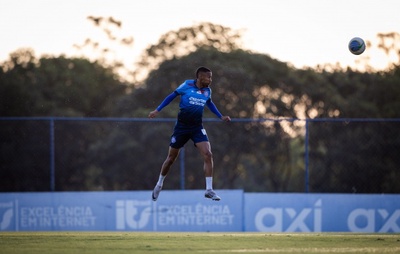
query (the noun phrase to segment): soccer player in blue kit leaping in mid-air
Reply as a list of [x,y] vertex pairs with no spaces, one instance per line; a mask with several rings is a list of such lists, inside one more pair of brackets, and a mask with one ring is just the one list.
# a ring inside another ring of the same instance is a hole
[[204,106],[207,106],[222,121],[229,122],[231,118],[223,116],[211,100],[211,81],[211,70],[206,67],[199,67],[196,70],[196,79],[183,82],[154,111],[149,113],[149,118],[156,117],[172,100],[179,95],[181,96],[178,119],[171,136],[168,156],[161,166],[160,176],[152,193],[153,201],[157,200],[168,171],[178,157],[180,149],[189,139],[193,141],[204,159],[204,174],[206,178],[206,192],[204,196],[216,201],[221,200],[212,187],[214,165],[211,145],[208,141],[206,130],[203,127]]

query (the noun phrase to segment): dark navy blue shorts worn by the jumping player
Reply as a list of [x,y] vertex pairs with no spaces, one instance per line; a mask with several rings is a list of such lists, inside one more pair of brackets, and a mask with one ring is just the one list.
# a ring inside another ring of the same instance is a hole
[[179,123],[175,125],[174,133],[171,136],[170,147],[180,149],[191,139],[196,145],[197,143],[207,141],[207,132],[202,125],[198,126],[182,126]]

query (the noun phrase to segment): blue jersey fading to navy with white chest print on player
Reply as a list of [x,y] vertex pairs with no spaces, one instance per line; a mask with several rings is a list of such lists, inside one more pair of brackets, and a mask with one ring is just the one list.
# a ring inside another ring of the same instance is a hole
[[209,87],[198,88],[195,80],[185,80],[176,90],[181,96],[179,103],[178,122],[197,125],[202,123],[204,106],[211,100]]

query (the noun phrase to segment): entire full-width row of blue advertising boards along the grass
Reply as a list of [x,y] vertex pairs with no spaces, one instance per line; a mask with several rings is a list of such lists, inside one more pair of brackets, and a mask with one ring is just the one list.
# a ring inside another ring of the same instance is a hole
[[400,195],[0,193],[0,231],[400,232]]

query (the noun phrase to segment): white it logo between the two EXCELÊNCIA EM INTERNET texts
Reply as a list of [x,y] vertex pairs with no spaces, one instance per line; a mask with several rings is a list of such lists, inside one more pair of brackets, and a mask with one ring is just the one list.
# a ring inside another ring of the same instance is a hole
[[143,229],[151,216],[151,201],[117,200],[116,227],[118,230]]

